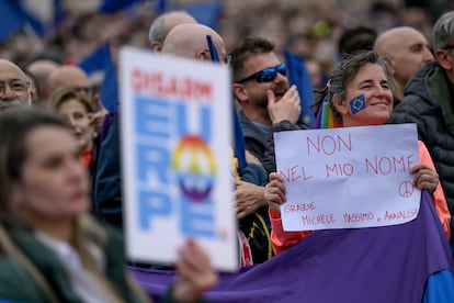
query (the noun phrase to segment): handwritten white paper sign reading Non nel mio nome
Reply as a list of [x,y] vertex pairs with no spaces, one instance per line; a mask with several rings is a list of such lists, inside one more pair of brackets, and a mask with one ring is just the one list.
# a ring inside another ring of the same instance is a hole
[[284,231],[357,228],[416,218],[421,192],[415,124],[274,134],[287,202]]

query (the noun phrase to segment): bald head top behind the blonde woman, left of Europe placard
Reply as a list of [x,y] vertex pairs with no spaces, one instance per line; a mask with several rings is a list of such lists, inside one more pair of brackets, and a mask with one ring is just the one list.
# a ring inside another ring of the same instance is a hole
[[[76,65],[66,65],[55,69],[47,80],[45,100],[58,88],[75,88],[90,98],[90,88],[87,74]],[[43,98],[44,99],[44,98]]]

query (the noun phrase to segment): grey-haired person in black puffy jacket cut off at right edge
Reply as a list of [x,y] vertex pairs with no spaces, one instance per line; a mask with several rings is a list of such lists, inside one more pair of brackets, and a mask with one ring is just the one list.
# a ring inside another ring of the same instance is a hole
[[409,80],[390,123],[417,123],[418,136],[429,149],[440,175],[451,215],[454,214],[454,11],[433,26],[435,61]]

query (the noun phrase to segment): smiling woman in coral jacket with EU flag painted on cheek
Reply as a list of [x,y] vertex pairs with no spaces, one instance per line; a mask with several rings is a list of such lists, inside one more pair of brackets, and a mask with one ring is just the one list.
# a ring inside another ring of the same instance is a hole
[[[393,78],[388,67],[375,52],[361,52],[342,61],[334,68],[330,83],[322,90],[318,104],[328,97],[333,116],[342,126],[382,125],[393,113]],[[416,173],[413,186],[432,193],[434,206],[446,237],[451,237],[446,199],[439,182],[432,159],[422,142],[418,142],[419,164],[410,170]],[[286,200],[283,177],[270,173],[265,189],[270,205],[272,225],[271,239],[275,254],[279,254],[311,232],[284,232],[280,205]]]

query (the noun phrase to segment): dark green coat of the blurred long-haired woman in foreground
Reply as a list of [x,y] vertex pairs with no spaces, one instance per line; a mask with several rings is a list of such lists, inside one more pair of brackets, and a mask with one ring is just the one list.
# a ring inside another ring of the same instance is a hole
[[[69,277],[57,256],[33,236],[33,231],[21,225],[8,226],[14,244],[31,260],[50,285],[59,302],[82,302],[71,289]],[[107,231],[106,242],[99,244],[105,255],[105,276],[113,282],[126,302],[141,302],[126,278],[123,238]],[[15,257],[0,250],[0,298],[19,302],[49,302],[32,274]]]

